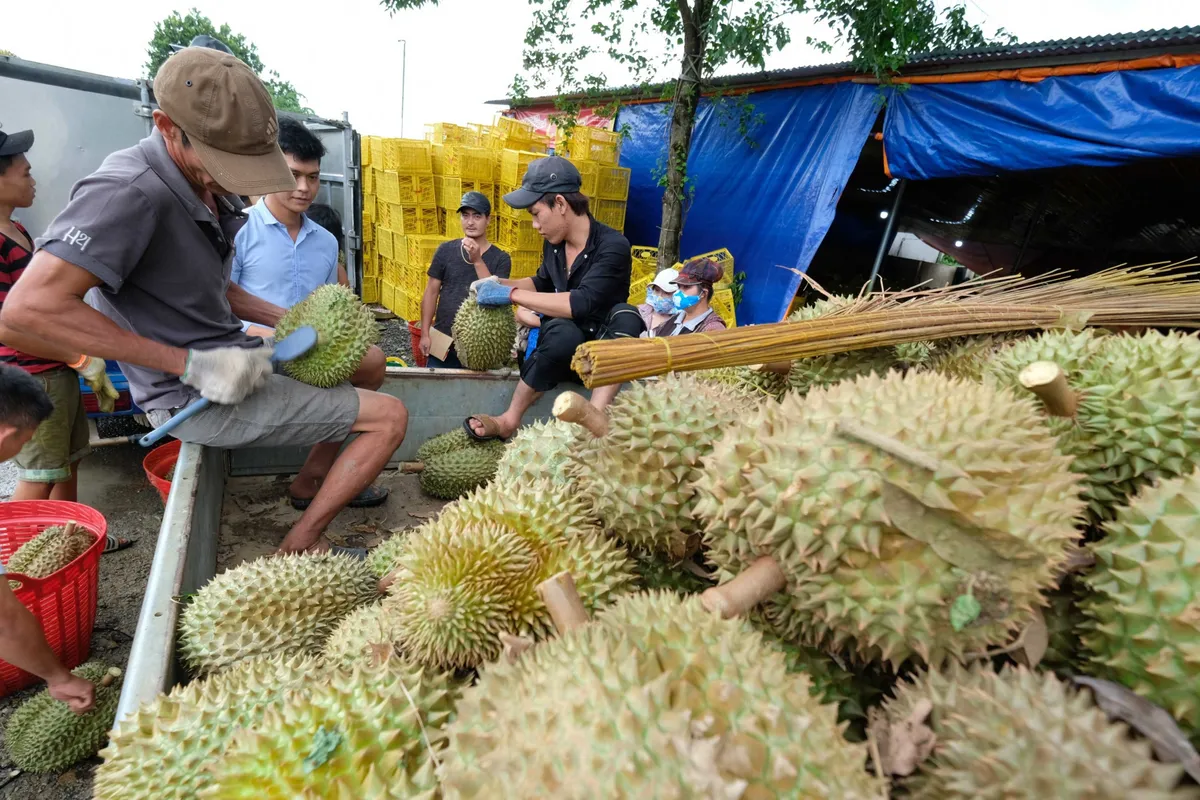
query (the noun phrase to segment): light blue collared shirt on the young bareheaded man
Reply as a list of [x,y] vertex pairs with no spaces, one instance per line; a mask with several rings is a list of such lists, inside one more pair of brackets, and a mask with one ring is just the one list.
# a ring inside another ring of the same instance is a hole
[[337,283],[337,240],[304,215],[292,241],[287,225],[263,198],[250,206],[250,218],[234,237],[229,279],[252,295],[290,308],[317,287]]

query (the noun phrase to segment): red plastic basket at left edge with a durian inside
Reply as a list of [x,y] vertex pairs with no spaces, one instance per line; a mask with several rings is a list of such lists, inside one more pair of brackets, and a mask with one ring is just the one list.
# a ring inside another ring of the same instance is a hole
[[[67,669],[74,669],[91,652],[96,625],[96,589],[100,554],[104,552],[108,523],[95,509],[60,500],[0,503],[0,558],[7,564],[17,548],[52,525],[74,522],[95,534],[96,542],[71,564],[44,578],[18,573],[0,581],[19,581],[17,600],[37,618],[46,640]],[[32,686],[41,679],[0,661],[0,697]]]

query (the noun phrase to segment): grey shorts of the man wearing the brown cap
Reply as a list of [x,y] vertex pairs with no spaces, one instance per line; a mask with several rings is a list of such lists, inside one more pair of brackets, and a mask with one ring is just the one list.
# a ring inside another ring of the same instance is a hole
[[[158,427],[164,420],[150,421]],[[274,374],[236,405],[210,405],[172,431],[180,441],[214,447],[308,446],[341,441],[359,417],[359,393],[338,384],[317,389]]]

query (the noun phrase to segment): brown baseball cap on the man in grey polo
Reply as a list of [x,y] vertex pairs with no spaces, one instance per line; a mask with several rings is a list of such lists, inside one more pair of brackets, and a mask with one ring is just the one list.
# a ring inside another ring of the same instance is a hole
[[185,47],[154,79],[155,100],[185,133],[214,180],[234,194],[290,192],[280,124],[263,82],[236,56]]

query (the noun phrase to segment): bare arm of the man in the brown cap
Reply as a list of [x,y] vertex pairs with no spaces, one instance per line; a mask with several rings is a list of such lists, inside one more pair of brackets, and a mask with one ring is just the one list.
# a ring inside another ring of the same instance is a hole
[[0,309],[0,341],[43,359],[86,353],[184,374],[187,350],[131,333],[83,301],[97,285],[100,278],[91,272],[38,251]]

